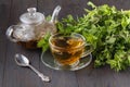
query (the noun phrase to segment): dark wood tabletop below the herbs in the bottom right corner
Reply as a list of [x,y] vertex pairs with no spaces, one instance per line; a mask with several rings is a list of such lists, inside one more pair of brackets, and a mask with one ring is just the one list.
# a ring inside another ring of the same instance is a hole
[[90,66],[77,73],[79,87],[129,87],[130,71],[114,72],[108,66]]

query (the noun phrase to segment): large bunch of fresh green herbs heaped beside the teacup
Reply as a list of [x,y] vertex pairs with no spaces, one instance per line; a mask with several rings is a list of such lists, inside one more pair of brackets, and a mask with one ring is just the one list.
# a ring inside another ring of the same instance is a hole
[[94,66],[110,65],[115,71],[130,66],[130,11],[115,7],[100,7],[88,2],[83,16],[64,17],[56,24],[58,33],[79,33],[94,47]]

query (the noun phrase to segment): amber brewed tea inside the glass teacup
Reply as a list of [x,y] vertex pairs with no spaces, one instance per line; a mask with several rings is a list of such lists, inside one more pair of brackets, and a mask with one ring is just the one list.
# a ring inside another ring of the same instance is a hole
[[84,41],[74,37],[58,37],[52,40],[52,44],[58,48],[52,48],[52,54],[55,60],[63,65],[72,65],[77,62],[83,48],[80,47]]

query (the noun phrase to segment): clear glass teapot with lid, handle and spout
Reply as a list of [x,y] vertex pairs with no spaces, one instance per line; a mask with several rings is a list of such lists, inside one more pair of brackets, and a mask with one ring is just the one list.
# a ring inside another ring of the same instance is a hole
[[61,7],[57,5],[50,22],[46,21],[42,13],[37,12],[36,8],[28,8],[27,13],[20,16],[20,23],[12,25],[6,30],[8,38],[13,42],[32,42],[41,39],[47,32],[55,33],[55,21],[61,11]]

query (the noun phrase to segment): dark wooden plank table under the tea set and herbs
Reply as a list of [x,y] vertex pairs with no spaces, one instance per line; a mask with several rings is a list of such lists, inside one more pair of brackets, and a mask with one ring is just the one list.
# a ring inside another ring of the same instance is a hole
[[[130,9],[130,0],[91,0],[96,5],[107,3],[118,9]],[[81,16],[88,0],[0,0],[0,87],[130,87],[130,71],[116,73],[108,66],[88,67],[76,72],[55,71],[44,66],[40,60],[41,50],[27,50],[11,42],[5,32],[10,25],[16,24],[27,8],[36,7],[46,15],[51,14],[60,4],[60,18],[67,14]],[[43,83],[29,69],[20,67],[14,61],[15,53],[29,58],[31,64],[51,77],[51,83]]]

